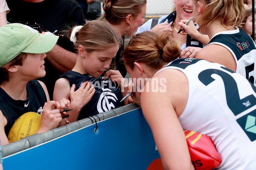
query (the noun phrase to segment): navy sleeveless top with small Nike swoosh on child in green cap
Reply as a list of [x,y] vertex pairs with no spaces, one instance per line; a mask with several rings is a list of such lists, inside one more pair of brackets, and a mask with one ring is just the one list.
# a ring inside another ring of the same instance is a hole
[[36,112],[43,108],[47,98],[38,80],[32,80],[26,85],[26,100],[12,99],[2,88],[0,88],[0,110],[6,116],[7,125],[4,127],[6,136],[8,136],[15,121],[26,112]]

